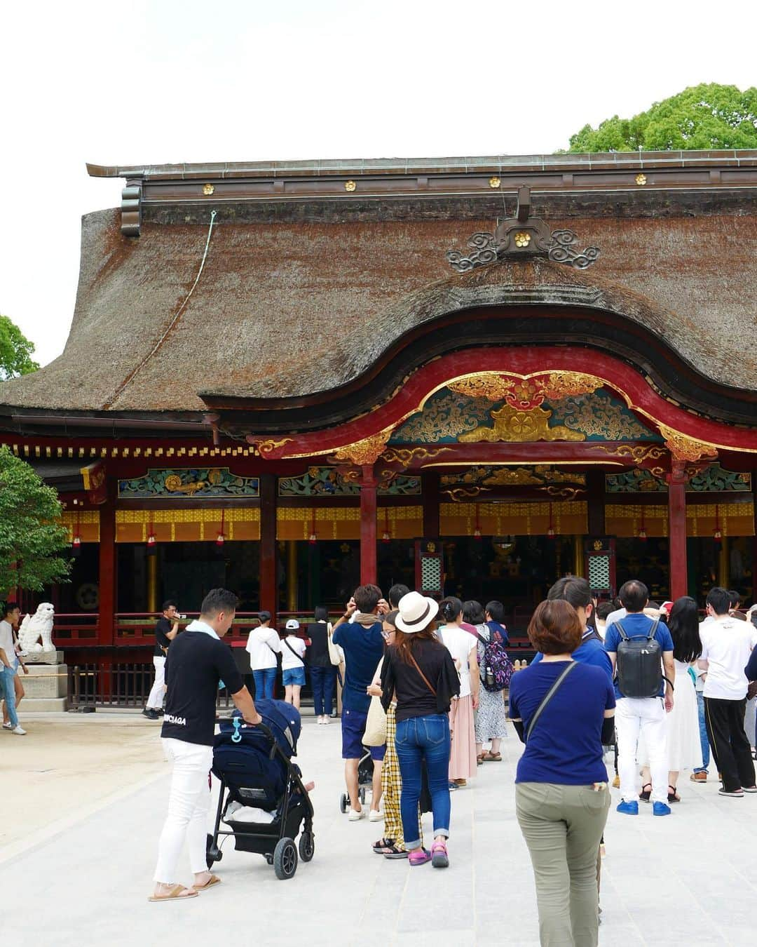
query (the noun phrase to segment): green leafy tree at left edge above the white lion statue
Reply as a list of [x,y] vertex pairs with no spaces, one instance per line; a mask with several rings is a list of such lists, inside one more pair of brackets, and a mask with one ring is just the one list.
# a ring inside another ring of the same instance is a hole
[[58,493],[0,446],[0,599],[15,586],[41,592],[67,580],[71,560],[59,555],[68,546],[61,517]]

